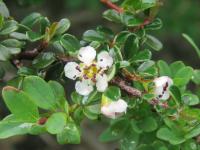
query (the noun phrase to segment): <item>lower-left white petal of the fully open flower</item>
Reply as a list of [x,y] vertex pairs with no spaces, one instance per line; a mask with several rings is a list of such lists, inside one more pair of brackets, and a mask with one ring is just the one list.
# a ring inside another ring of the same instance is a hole
[[79,93],[80,95],[86,96],[93,91],[93,86],[90,81],[83,80],[76,82],[75,89],[76,92]]

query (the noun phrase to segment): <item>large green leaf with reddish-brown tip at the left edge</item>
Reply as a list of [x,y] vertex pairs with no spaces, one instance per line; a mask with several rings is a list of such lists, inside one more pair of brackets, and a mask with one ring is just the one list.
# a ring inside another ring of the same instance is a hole
[[17,118],[27,122],[37,121],[38,108],[26,93],[7,86],[3,89],[2,95],[7,107]]

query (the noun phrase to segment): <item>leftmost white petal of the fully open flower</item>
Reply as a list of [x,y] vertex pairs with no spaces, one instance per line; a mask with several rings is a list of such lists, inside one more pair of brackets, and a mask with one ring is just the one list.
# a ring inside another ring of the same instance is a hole
[[77,77],[80,77],[82,71],[79,65],[75,62],[69,62],[64,67],[65,76],[69,79],[75,80]]

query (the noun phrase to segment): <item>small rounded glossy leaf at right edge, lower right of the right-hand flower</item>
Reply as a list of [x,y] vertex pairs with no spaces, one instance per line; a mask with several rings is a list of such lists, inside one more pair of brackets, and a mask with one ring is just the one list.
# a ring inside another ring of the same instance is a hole
[[199,104],[199,97],[191,93],[183,94],[182,100],[186,105],[189,105],[189,106]]

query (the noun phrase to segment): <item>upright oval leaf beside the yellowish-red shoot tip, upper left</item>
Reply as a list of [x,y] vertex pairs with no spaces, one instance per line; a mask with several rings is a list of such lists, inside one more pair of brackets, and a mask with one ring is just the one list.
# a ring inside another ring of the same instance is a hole
[[57,25],[56,35],[65,33],[69,29],[69,27],[70,27],[69,19],[67,19],[67,18],[61,19]]

